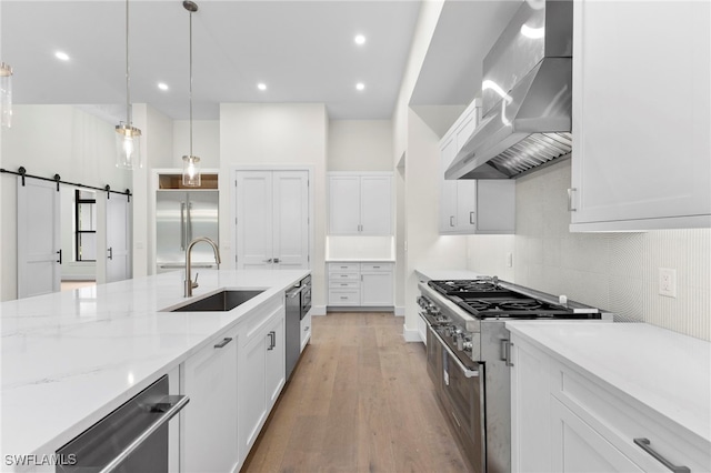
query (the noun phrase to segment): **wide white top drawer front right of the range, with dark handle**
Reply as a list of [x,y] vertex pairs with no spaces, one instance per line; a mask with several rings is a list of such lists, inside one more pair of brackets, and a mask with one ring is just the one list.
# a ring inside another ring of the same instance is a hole
[[645,471],[663,467],[634,439],[648,439],[650,447],[674,465],[691,471],[708,471],[711,466],[708,441],[670,423],[655,411],[612,393],[567,366],[558,366],[557,379],[552,394]]

